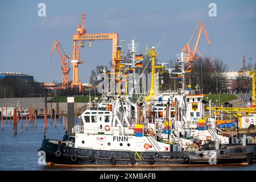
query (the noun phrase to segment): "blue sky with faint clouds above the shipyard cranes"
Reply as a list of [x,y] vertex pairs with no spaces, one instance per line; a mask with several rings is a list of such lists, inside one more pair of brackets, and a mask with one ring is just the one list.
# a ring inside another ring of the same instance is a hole
[[[46,4],[46,17],[38,16],[38,4]],[[208,15],[209,3],[217,5],[217,17]],[[256,63],[256,1],[0,1],[0,72],[22,72],[40,82],[61,82],[57,52],[49,55],[55,40],[72,55],[72,35],[86,12],[88,33],[117,32],[119,40],[135,38],[139,52],[157,45],[159,60],[168,61],[188,42],[197,21],[207,26],[210,43],[202,34],[202,55],[219,58],[230,70],[242,67],[253,57]],[[192,44],[195,39],[192,40]],[[120,44],[120,43],[119,43]],[[89,81],[98,64],[109,64],[112,42],[93,42],[81,51],[80,81]],[[72,79],[72,70],[71,70]]]

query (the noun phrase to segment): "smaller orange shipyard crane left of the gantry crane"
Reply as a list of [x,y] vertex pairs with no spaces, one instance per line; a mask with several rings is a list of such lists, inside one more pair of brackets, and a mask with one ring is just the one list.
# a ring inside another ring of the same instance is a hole
[[[61,50],[64,53],[64,60],[63,60],[63,57],[61,55],[59,47],[61,48]],[[68,59],[70,59],[70,56],[65,54],[63,48],[60,45],[60,42],[57,41],[57,40],[55,40],[55,43],[54,43],[52,51],[51,51],[51,55],[52,55],[53,51],[55,51],[55,48],[57,48],[57,51],[59,53],[60,61],[61,61],[61,69],[62,69],[62,72],[63,72],[61,88],[67,89],[68,88],[68,81],[69,81],[69,71],[70,71]]]

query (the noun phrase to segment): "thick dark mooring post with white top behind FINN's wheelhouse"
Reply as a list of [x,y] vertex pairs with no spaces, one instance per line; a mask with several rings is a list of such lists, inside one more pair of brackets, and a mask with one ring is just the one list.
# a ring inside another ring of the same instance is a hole
[[68,101],[67,130],[68,130],[68,134],[72,134],[73,127],[75,126],[74,97],[67,97],[67,101]]

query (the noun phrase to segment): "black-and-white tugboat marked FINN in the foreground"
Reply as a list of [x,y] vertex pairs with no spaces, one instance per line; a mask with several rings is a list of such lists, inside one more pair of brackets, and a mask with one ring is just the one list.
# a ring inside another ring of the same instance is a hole
[[[253,151],[248,146],[222,147],[215,150],[186,151],[147,132],[137,119],[130,123],[117,98],[114,110],[88,109],[81,114],[82,125],[73,127],[75,140],[44,137],[39,151],[46,153],[48,165],[88,167],[166,167],[173,165],[250,164]],[[140,107],[138,107],[138,114]],[[138,118],[140,116],[138,115]],[[171,127],[164,127],[171,133]]]

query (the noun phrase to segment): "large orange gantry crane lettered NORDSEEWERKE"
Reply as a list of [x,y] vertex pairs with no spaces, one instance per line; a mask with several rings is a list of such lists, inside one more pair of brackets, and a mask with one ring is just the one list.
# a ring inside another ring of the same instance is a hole
[[84,41],[89,41],[89,47],[92,47],[94,40],[112,40],[112,67],[115,68],[115,60],[117,57],[116,51],[118,47],[118,34],[117,33],[100,33],[100,34],[86,34],[85,28],[85,13],[82,14],[81,23],[78,24],[77,34],[73,35],[73,59],[71,60],[73,66],[73,81],[71,88],[79,86],[81,92],[82,83],[79,82],[79,69],[78,65],[83,64],[84,61],[80,60],[80,49],[84,47]]

